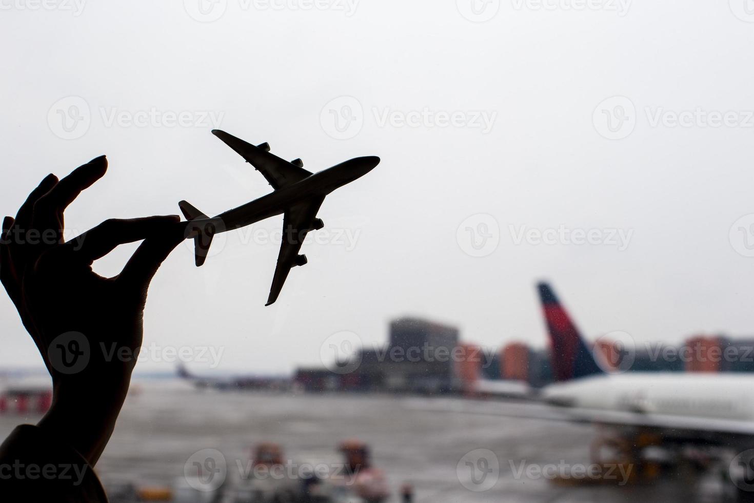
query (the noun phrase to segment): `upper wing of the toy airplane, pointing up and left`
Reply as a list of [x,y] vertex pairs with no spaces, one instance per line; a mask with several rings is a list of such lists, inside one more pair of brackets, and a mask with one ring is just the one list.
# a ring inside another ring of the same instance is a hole
[[277,155],[271,154],[269,152],[270,146],[267,143],[253,146],[251,143],[225,133],[225,131],[214,129],[212,133],[231,149],[238,152],[259,173],[262,173],[275,190],[311,176],[311,172],[303,168],[304,164],[301,159],[296,159],[293,162],[285,161]]

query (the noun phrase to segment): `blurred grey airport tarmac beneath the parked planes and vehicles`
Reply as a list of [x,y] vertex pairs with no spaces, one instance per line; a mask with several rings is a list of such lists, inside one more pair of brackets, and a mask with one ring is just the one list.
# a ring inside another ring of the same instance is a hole
[[[590,465],[594,429],[588,425],[501,416],[535,405],[474,400],[339,395],[275,395],[198,391],[185,382],[138,382],[115,434],[97,465],[107,482],[137,480],[166,485],[183,477],[184,465],[204,449],[225,459],[225,483],[243,477],[252,446],[279,443],[287,463],[340,462],[336,446],[368,443],[394,494],[415,487],[415,501],[724,501],[724,477],[677,476],[652,484],[562,486],[546,474]],[[35,422],[35,417],[26,419]],[[0,416],[7,435],[23,418]],[[552,477],[550,477],[552,478]],[[392,501],[399,501],[394,498]]]

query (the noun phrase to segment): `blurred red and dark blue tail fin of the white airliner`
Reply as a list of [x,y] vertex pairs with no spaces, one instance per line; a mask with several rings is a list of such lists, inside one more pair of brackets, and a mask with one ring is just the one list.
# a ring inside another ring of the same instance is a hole
[[550,333],[556,381],[569,381],[604,373],[550,285],[543,282],[538,284],[537,288],[544,319],[547,322],[547,332]]

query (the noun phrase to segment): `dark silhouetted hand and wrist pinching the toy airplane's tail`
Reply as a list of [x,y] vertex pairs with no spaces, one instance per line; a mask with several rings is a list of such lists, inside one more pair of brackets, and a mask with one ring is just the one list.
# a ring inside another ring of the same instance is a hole
[[[45,177],[5,217],[0,280],[53,380],[53,403],[38,423],[94,465],[115,426],[143,336],[149,282],[184,236],[178,216],[109,219],[63,240],[63,212],[107,170],[105,156],[60,181]],[[119,244],[144,240],[121,274],[92,263]]]

